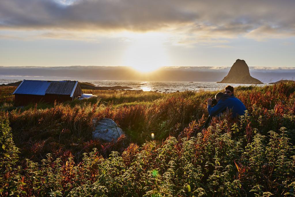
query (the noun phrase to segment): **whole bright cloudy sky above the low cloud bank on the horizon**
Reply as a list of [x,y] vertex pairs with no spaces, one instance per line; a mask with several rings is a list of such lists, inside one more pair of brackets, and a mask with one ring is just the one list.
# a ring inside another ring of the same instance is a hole
[[295,67],[295,1],[1,0],[0,66]]

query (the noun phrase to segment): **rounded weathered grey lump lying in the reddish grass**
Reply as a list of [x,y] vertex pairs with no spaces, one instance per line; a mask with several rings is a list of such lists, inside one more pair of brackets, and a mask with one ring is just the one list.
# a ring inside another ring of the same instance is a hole
[[112,139],[117,140],[123,134],[122,129],[112,119],[103,118],[99,121],[94,119],[93,123],[95,127],[92,132],[92,139],[101,139],[110,142]]

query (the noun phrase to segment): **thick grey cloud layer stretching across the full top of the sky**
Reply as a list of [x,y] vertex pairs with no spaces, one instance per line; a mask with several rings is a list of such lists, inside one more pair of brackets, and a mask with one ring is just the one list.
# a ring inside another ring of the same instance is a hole
[[1,0],[0,28],[184,32],[184,43],[238,36],[263,41],[295,35],[294,7],[290,0]]

